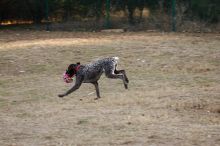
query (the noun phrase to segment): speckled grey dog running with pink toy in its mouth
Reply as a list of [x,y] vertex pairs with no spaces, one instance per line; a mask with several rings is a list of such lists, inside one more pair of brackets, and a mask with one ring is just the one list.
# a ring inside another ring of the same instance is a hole
[[59,97],[67,96],[73,91],[79,89],[82,83],[92,83],[95,86],[97,98],[100,98],[98,80],[101,75],[105,73],[106,77],[112,79],[121,79],[124,83],[125,89],[128,89],[128,78],[125,70],[116,70],[118,64],[118,57],[110,57],[99,59],[87,65],[70,64],[64,73],[64,80],[67,83],[72,82],[72,77],[76,76],[75,85],[64,94],[59,94]]

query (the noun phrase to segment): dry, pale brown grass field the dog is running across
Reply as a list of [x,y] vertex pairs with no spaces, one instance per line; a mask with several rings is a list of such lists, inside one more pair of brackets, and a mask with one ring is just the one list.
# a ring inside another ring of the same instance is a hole
[[[118,56],[130,80],[102,98],[62,80],[70,63]],[[219,146],[220,35],[0,31],[1,146]]]

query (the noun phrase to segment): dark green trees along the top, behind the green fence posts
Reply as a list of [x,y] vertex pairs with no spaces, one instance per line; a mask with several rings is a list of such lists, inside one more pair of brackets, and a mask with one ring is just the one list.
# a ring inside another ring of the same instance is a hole
[[[134,22],[133,13],[137,8],[146,7],[151,11],[162,9],[170,14],[172,0],[110,0],[111,10],[128,12],[128,21]],[[93,17],[96,20],[105,16],[106,0],[0,0],[0,22],[7,20],[28,20],[34,23],[50,21],[74,21]],[[176,9],[184,7],[183,15],[216,23],[219,21],[220,0],[176,0]],[[178,11],[178,10],[177,10]]]

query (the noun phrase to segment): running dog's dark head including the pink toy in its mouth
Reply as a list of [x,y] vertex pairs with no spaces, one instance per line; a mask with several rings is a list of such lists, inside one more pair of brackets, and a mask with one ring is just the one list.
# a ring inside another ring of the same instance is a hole
[[77,64],[70,64],[68,66],[66,72],[64,72],[63,74],[63,79],[66,83],[71,83],[73,81],[72,78],[78,71],[79,67],[80,67],[80,62],[78,62]]

